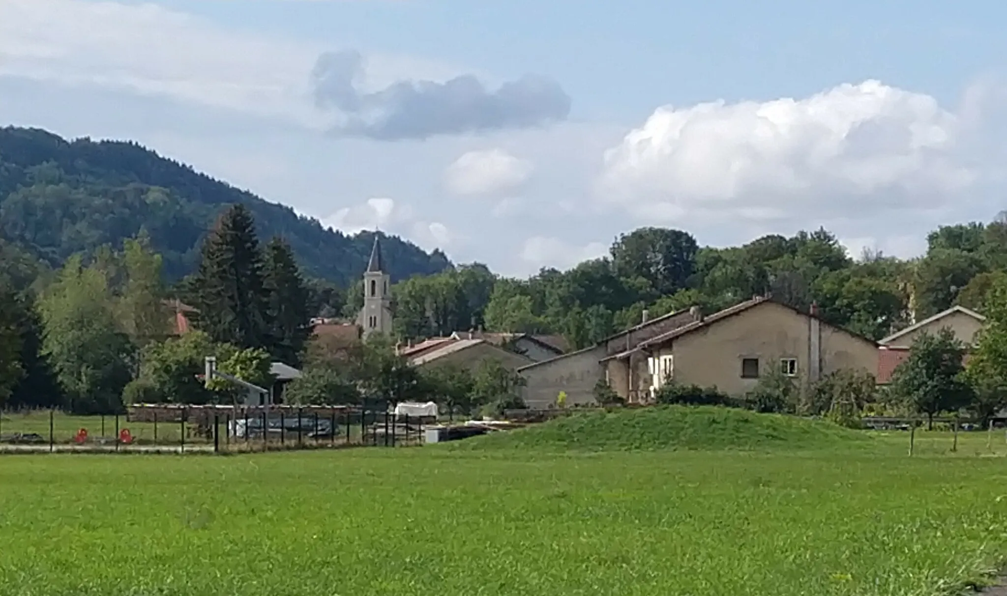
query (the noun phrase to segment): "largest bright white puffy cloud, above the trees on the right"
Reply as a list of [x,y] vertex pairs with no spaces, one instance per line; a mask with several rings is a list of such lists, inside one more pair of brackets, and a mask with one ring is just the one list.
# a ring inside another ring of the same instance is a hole
[[667,224],[939,209],[981,176],[961,118],[867,81],[801,99],[659,108],[605,153],[599,198]]

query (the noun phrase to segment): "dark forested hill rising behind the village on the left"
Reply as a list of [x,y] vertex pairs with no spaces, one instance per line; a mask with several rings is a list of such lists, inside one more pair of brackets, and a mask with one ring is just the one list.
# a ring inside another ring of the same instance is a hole
[[[136,143],[79,139],[0,129],[0,238],[56,265],[145,228],[164,257],[165,273],[191,272],[203,235],[228,204],[246,204],[259,234],[280,235],[305,272],[342,286],[365,270],[374,236],[322,228],[288,206],[214,180]],[[432,274],[450,265],[397,237],[383,242],[393,279]]]

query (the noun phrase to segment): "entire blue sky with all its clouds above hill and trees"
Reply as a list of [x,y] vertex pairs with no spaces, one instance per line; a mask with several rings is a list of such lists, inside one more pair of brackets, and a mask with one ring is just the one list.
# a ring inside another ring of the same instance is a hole
[[[506,274],[643,225],[918,253],[1007,208],[1007,5],[0,0],[0,124]],[[502,87],[501,87],[502,86]]]

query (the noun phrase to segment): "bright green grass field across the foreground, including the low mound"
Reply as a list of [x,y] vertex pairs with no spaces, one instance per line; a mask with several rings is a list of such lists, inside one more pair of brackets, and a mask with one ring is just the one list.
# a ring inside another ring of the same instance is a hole
[[636,445],[581,419],[417,449],[7,456],[0,594],[932,596],[1007,561],[985,433],[909,458],[906,433],[721,414],[608,421]]

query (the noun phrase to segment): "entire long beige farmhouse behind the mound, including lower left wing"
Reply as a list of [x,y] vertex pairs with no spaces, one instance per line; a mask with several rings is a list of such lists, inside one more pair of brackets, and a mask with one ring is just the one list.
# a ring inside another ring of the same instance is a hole
[[593,402],[606,382],[628,403],[650,403],[663,384],[716,387],[743,395],[770,369],[812,383],[841,368],[877,369],[877,344],[758,297],[704,316],[693,307],[645,321],[598,345],[520,369],[532,408]]

